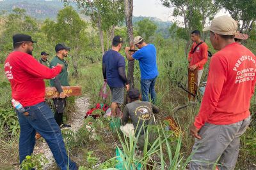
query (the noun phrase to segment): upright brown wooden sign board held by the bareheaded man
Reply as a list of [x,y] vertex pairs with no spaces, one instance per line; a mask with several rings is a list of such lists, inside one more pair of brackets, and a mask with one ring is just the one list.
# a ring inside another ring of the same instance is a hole
[[189,92],[191,92],[191,94],[194,94],[194,96],[192,96],[191,94],[188,94],[189,101],[195,101],[195,96],[197,91],[196,81],[197,81],[197,69],[195,69],[194,71],[190,71],[190,69],[188,68],[188,90]]

